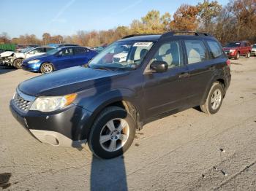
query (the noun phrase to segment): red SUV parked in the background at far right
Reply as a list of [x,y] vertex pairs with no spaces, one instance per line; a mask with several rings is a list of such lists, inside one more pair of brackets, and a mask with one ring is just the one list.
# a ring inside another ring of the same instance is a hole
[[251,56],[252,47],[249,42],[228,42],[223,47],[224,52],[227,54],[228,58],[235,58],[236,60],[240,58],[241,55],[249,58]]

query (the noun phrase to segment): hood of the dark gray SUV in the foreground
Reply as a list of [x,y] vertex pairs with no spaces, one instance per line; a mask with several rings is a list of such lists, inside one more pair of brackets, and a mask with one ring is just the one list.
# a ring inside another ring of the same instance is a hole
[[26,80],[20,83],[18,88],[21,92],[33,96],[67,95],[100,83],[108,83],[114,77],[128,73],[129,71],[106,71],[76,66]]

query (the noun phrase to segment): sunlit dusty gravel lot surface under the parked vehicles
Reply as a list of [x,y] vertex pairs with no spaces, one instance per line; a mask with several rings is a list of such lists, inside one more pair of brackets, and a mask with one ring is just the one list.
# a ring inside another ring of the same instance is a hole
[[39,74],[1,69],[0,190],[256,190],[256,58],[232,62],[217,114],[151,122],[113,160],[31,137],[8,106],[18,83]]

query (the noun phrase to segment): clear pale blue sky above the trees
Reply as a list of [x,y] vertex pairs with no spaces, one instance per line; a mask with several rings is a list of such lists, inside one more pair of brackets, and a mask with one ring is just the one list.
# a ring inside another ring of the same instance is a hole
[[[219,0],[227,4],[228,0]],[[129,26],[151,9],[161,14],[173,13],[181,4],[197,4],[184,0],[0,0],[0,34],[71,35],[76,31],[110,29]]]

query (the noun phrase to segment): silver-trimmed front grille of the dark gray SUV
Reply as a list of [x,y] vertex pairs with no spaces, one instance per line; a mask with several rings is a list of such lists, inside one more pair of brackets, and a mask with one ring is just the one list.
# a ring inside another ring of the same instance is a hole
[[34,99],[34,96],[26,95],[21,93],[19,90],[16,90],[12,103],[21,111],[28,112]]

